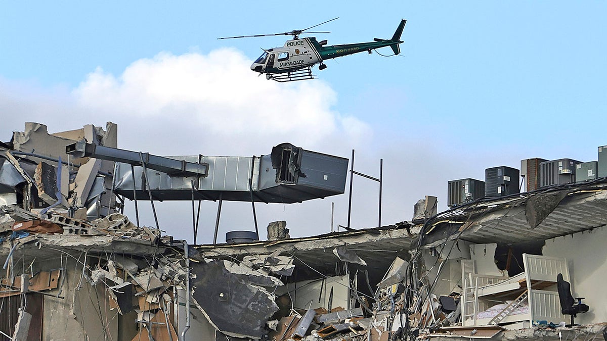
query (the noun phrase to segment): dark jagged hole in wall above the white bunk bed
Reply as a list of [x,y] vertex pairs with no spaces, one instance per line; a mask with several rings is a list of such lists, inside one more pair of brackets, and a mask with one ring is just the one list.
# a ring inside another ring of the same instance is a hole
[[523,254],[541,255],[544,241],[529,243],[500,244],[495,248],[495,265],[500,270],[507,270],[510,277],[524,271]]

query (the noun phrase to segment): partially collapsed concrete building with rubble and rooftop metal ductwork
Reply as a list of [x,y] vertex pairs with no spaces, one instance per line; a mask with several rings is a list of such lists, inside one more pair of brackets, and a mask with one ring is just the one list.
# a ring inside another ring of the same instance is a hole
[[439,213],[426,197],[410,221],[302,238],[276,221],[267,240],[217,243],[215,226],[188,245],[124,201],[324,198],[348,160],[291,144],[157,157],[118,149],[112,123],[27,123],[0,161],[5,340],[607,339],[606,178]]

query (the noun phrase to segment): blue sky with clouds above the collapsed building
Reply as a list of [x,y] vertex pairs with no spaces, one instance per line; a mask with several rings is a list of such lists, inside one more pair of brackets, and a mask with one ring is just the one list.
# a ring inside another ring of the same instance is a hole
[[[446,181],[483,180],[486,167],[596,160],[607,144],[605,13],[605,1],[3,2],[0,140],[24,121],[51,131],[114,121],[121,147],[157,154],[259,155],[284,141],[344,157],[355,148],[362,172],[376,175],[384,158],[384,222],[409,220],[418,198],[437,195],[444,209]],[[216,39],[336,16],[317,38],[390,38],[407,19],[402,56],[359,53],[315,69],[319,79],[269,84],[248,64],[285,37]],[[356,184],[354,221],[373,226],[375,185]],[[328,200],[308,204],[322,221]],[[306,204],[262,217],[287,219],[292,235],[327,232],[302,218]]]

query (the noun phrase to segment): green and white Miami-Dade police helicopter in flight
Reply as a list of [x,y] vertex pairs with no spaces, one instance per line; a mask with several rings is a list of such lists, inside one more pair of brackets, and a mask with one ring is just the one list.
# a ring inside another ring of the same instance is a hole
[[396,28],[396,32],[391,39],[374,38],[371,42],[359,42],[356,44],[342,44],[327,46],[327,41],[317,41],[316,38],[299,38],[301,34],[310,33],[330,33],[330,32],[305,32],[327,22],[339,18],[321,22],[320,24],[308,27],[303,30],[293,30],[291,32],[274,33],[269,35],[251,35],[251,36],[231,36],[217,39],[251,38],[260,36],[280,36],[291,35],[293,39],[285,42],[283,47],[263,50],[263,53],[251,64],[251,70],[266,74],[266,79],[273,79],[279,82],[299,81],[302,79],[313,79],[312,67],[319,64],[318,69],[327,69],[324,61],[327,59],[351,55],[353,53],[365,52],[371,53],[371,50],[380,47],[390,46],[395,55],[401,50],[398,44],[401,44],[402,29],[407,22],[401,19]]

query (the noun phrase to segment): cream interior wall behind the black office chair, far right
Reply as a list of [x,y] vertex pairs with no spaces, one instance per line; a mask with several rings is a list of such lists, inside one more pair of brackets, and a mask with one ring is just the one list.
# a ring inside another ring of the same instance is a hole
[[572,295],[586,297],[582,303],[588,305],[590,310],[578,314],[575,323],[607,321],[607,252],[604,252],[606,240],[607,230],[600,227],[546,240],[546,246],[542,250],[547,256],[567,258],[569,277],[572,279]]

